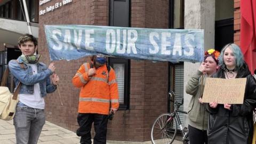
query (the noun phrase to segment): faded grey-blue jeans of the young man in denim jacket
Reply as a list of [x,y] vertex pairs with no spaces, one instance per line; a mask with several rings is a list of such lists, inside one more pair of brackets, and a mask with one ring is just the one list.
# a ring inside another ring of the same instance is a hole
[[13,123],[17,144],[36,144],[45,124],[44,110],[17,106]]

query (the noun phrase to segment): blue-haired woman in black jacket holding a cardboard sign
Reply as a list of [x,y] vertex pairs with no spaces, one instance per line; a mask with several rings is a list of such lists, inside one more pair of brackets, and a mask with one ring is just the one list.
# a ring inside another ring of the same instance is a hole
[[217,73],[213,78],[246,78],[243,104],[207,103],[209,111],[208,143],[251,144],[253,109],[256,104],[256,81],[243,59],[238,45],[227,44],[221,50]]

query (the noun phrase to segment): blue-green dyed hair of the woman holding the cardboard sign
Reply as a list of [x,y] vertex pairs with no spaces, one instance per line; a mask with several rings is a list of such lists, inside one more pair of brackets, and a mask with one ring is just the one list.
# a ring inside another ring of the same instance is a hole
[[242,68],[244,65],[244,56],[243,56],[243,53],[242,53],[240,47],[234,43],[229,43],[222,48],[222,50],[220,52],[220,57],[219,57],[219,66],[221,68],[226,68],[226,65],[223,60],[223,56],[224,56],[225,50],[228,47],[229,47],[229,49],[231,49],[231,51],[233,51],[233,53],[235,55],[235,61],[236,61],[235,70]]

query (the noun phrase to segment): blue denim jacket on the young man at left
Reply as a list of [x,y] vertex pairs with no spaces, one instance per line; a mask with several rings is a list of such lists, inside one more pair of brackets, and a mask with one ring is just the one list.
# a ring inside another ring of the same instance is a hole
[[57,89],[57,86],[54,86],[50,80],[52,71],[47,68],[44,63],[36,63],[37,74],[33,75],[33,69],[28,66],[27,63],[25,63],[20,57],[17,60],[19,63],[23,63],[25,68],[21,68],[19,63],[15,60],[11,60],[8,66],[11,74],[13,75],[15,89],[19,82],[22,83],[19,94],[33,94],[34,84],[36,83],[39,83],[41,97],[45,97],[46,93],[52,93]]

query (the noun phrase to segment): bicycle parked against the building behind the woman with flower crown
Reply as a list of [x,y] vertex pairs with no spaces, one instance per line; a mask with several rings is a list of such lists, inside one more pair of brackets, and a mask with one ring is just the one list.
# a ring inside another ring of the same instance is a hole
[[186,111],[179,110],[180,106],[183,105],[183,98],[182,102],[179,103],[175,101],[175,97],[174,101],[172,100],[172,97],[175,95],[173,91],[169,92],[169,94],[171,97],[170,101],[174,103],[174,111],[157,117],[151,128],[151,142],[153,144],[171,144],[177,135],[179,125],[183,144],[188,144],[188,128],[183,127],[179,117],[179,113],[187,114]]

